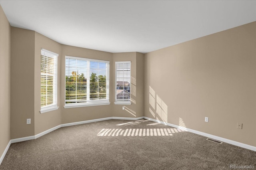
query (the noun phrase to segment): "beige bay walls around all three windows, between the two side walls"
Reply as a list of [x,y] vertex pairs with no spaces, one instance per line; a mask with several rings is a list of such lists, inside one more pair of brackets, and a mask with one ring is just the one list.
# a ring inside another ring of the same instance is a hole
[[[25,38],[26,37],[26,38]],[[30,30],[12,27],[12,116],[11,138],[32,136],[44,132],[52,127],[64,123],[73,123],[105,117],[135,117],[143,116],[143,54],[119,53],[112,54],[104,51],[85,49],[69,45],[61,45],[45,36]],[[41,48],[59,54],[58,57],[58,106],[59,109],[40,114],[40,51]],[[128,55],[127,55],[128,54]],[[110,105],[78,107],[65,109],[65,55],[101,59],[110,61]],[[118,59],[115,58],[118,56]],[[25,60],[24,60],[25,59]],[[122,114],[122,107],[114,105],[115,93],[115,63],[114,61],[132,61],[132,83],[134,95],[133,104],[127,106],[126,115]],[[136,64],[137,63],[137,64]],[[21,76],[25,69],[26,76]],[[136,70],[140,71],[136,73]],[[136,74],[139,77],[139,92],[136,92]],[[30,84],[33,82],[32,84]],[[22,89],[22,91],[21,91]],[[19,94],[19,95],[15,95]],[[26,95],[25,95],[26,94]],[[25,99],[23,98],[25,96]],[[137,96],[137,97],[136,97]],[[138,98],[140,101],[138,101]],[[23,100],[22,100],[23,99]],[[27,102],[29,101],[29,102]],[[14,107],[16,105],[16,107]],[[120,107],[120,108],[119,108]],[[33,109],[33,111],[32,111]],[[121,112],[120,112],[120,111]],[[26,124],[26,119],[31,119],[31,124]]]

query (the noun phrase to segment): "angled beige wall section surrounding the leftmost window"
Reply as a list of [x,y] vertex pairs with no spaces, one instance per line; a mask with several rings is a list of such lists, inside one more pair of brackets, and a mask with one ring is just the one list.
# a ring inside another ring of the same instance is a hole
[[34,121],[35,121],[35,134],[39,134],[40,132],[44,132],[50,128],[56,127],[61,124],[61,108],[55,111],[50,111],[46,113],[40,113],[41,109],[41,101],[40,101],[40,89],[41,89],[41,48],[47,49],[54,53],[59,54],[58,57],[58,82],[57,82],[57,89],[58,89],[58,106],[60,107],[60,78],[61,78],[61,44],[57,43],[50,38],[43,36],[35,32],[35,69],[34,69]]

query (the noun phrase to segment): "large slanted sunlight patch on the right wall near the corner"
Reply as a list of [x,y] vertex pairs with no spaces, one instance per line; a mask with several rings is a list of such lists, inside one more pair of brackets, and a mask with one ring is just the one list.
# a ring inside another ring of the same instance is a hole
[[149,111],[151,115],[158,121],[167,123],[168,121],[168,106],[156,94],[156,92],[149,86]]

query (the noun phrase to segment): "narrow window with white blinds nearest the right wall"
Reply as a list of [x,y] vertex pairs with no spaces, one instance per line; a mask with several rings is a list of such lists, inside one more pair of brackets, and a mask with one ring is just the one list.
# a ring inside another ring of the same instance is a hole
[[131,61],[116,61],[116,102],[130,102]]

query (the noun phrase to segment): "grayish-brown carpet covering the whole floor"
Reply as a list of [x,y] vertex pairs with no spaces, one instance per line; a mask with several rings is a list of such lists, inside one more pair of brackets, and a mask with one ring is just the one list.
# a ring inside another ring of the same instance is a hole
[[11,144],[1,170],[228,170],[256,152],[148,120],[62,127]]

